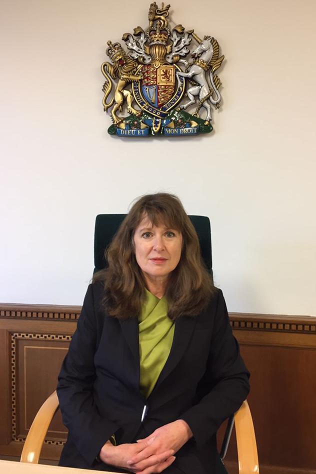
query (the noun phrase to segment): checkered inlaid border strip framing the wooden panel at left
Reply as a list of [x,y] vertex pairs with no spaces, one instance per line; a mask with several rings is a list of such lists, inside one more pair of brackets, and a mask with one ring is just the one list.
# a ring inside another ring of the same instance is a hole
[[[11,406],[12,406],[12,441],[24,442],[26,436],[16,435],[16,340],[17,339],[41,339],[70,341],[70,335],[62,334],[30,334],[26,332],[11,333]],[[63,445],[64,441],[46,440],[45,444]]]

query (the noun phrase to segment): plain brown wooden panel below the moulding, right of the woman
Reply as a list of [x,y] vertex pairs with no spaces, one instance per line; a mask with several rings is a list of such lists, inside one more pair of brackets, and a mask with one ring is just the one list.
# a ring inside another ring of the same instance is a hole
[[[316,466],[316,350],[242,346],[252,372],[250,406],[256,426],[260,462]],[[309,372],[309,373],[308,373]]]

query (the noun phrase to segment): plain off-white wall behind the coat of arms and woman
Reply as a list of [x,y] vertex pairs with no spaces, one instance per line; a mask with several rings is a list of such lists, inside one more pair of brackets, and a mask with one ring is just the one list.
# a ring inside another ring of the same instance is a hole
[[230,311],[315,315],[316,1],[172,0],[226,57],[214,132],[111,137],[105,44],[149,3],[1,2],[0,301],[81,304],[95,215],[166,190],[210,217]]

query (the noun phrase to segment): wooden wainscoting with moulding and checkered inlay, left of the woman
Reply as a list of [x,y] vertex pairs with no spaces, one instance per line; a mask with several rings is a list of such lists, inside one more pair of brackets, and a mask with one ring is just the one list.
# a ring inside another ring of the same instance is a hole
[[[1,419],[6,415],[8,420],[6,436],[1,425],[0,454],[20,455],[35,413],[56,387],[56,377],[79,312],[80,307],[72,306],[9,305],[3,309],[0,305],[0,350],[5,357],[1,382],[5,380],[4,372],[7,375],[4,383],[7,406],[5,409],[1,403],[0,415]],[[58,411],[49,427],[42,458],[59,459],[65,433]]]

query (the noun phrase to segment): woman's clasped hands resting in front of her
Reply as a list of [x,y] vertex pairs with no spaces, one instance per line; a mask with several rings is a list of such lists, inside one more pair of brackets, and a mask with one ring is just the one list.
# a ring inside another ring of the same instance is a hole
[[192,436],[188,424],[178,419],[157,428],[136,443],[112,446],[107,441],[100,451],[103,462],[136,472],[161,472],[175,459],[173,455]]

